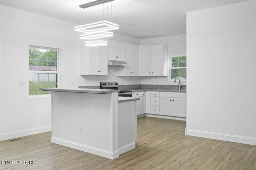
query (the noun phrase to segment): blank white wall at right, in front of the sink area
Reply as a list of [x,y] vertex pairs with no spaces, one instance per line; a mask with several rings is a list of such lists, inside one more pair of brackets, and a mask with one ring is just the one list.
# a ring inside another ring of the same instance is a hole
[[256,145],[256,4],[187,14],[187,134]]

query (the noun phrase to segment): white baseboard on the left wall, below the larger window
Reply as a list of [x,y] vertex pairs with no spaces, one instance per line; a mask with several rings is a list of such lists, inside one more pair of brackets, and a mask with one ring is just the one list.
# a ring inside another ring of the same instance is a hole
[[52,126],[43,126],[43,127],[37,127],[37,128],[32,128],[32,129],[26,129],[22,131],[15,131],[11,133],[2,133],[0,135],[0,141],[8,140],[8,139],[14,139],[18,137],[24,137],[28,135],[34,135],[37,133],[43,133],[43,132],[48,132],[52,130]]

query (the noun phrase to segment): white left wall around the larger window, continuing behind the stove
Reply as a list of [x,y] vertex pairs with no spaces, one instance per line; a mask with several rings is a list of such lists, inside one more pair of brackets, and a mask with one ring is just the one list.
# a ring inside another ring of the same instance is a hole
[[[117,78],[115,68],[109,68],[109,76],[80,76],[80,39],[74,31],[75,25],[0,5],[0,140],[51,129],[50,97],[28,95],[28,45],[61,49],[60,85],[63,88],[99,85],[100,80],[118,80],[121,84],[140,82],[140,78]],[[115,35],[114,39],[140,43],[123,35]],[[25,87],[18,87],[18,80],[25,80]]]

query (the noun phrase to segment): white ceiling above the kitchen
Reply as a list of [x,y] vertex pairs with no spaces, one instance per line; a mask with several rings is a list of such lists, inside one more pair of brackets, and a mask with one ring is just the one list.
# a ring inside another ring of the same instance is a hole
[[186,12],[248,0],[114,0],[104,5],[79,8],[79,5],[92,1],[94,0],[0,0],[0,4],[78,25],[103,19],[110,21],[112,18],[113,23],[120,25],[120,29],[114,33],[148,39],[186,33]]

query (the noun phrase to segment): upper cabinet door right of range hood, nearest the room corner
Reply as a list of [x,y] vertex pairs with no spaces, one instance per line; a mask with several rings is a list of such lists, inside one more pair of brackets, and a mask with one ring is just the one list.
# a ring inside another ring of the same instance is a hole
[[130,48],[130,70],[132,76],[138,76],[138,45],[131,45]]

